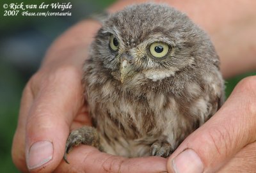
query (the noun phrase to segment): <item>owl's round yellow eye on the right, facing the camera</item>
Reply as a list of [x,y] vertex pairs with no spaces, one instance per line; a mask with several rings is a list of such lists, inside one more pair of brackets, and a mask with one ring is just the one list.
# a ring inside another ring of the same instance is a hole
[[153,43],[149,48],[150,53],[154,57],[164,57],[169,51],[169,46],[165,43]]

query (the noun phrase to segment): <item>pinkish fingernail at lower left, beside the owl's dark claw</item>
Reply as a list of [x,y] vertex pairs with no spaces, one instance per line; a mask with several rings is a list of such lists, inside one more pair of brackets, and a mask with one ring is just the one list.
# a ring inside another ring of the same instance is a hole
[[28,169],[36,169],[52,159],[52,142],[42,140],[35,142],[29,149],[27,157]]

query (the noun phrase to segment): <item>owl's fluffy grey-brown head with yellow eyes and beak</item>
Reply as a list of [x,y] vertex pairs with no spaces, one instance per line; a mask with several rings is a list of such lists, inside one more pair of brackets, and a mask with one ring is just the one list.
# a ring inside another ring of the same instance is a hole
[[110,15],[92,45],[93,61],[120,84],[157,82],[197,73],[218,56],[207,34],[164,4],[128,6]]

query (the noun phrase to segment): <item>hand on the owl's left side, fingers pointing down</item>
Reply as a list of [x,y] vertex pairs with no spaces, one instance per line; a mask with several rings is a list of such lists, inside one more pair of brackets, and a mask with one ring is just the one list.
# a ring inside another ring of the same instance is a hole
[[[60,36],[24,89],[12,147],[13,162],[22,172],[28,171],[26,162],[30,169],[47,161],[50,164],[45,171],[56,168],[62,160],[70,128],[90,123],[83,104],[81,77],[86,47],[99,27],[95,23],[80,22]],[[83,34],[85,28],[87,36]],[[84,37],[80,38],[81,35]],[[35,142],[48,150],[31,147]],[[29,154],[29,149],[36,153]]]

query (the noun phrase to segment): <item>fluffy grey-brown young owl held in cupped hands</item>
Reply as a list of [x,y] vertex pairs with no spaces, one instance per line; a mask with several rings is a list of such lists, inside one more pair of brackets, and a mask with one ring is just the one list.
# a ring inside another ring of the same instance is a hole
[[166,158],[223,103],[220,61],[209,36],[164,4],[109,15],[83,69],[93,127],[70,133],[65,160],[79,144],[128,158]]

